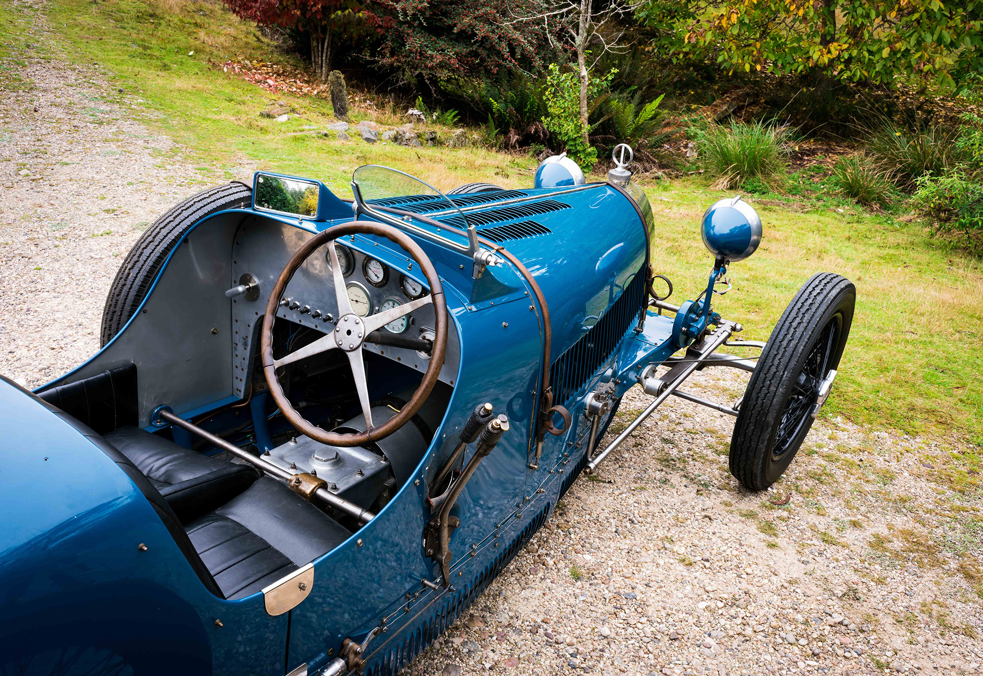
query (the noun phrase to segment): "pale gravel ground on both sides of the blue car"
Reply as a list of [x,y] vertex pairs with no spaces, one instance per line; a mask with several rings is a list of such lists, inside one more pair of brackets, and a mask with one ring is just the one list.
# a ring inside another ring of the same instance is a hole
[[[0,96],[0,372],[29,386],[97,349],[121,256],[202,188],[36,21],[32,85]],[[705,372],[687,388],[733,401],[743,382]],[[629,392],[612,430],[644,399]],[[979,670],[983,528],[953,449],[823,421],[756,495],[727,474],[730,429],[668,402],[406,673]]]

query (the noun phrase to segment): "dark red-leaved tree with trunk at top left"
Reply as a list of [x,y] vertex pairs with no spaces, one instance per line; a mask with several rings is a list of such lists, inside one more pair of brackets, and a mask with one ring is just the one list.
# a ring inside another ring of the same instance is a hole
[[224,0],[226,7],[262,26],[297,28],[311,36],[311,65],[321,81],[331,72],[338,42],[382,33],[392,25],[361,0]]

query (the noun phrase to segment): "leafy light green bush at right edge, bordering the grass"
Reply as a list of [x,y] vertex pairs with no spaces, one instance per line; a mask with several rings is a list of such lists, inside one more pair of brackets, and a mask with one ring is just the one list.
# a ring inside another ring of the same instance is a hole
[[962,168],[916,180],[915,208],[934,222],[938,232],[953,235],[974,253],[983,253],[983,175]]

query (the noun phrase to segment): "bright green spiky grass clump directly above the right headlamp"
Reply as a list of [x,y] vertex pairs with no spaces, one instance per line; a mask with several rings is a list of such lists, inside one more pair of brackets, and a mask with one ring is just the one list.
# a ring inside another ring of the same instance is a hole
[[739,188],[751,178],[768,186],[780,183],[785,170],[788,127],[762,122],[711,125],[698,135],[700,155],[718,177],[717,186]]

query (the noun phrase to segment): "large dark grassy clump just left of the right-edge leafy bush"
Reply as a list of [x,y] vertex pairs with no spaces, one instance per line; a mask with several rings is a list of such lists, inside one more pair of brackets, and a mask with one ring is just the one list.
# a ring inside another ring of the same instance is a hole
[[959,137],[952,127],[932,125],[912,132],[887,122],[872,135],[868,149],[901,188],[913,190],[919,177],[942,176],[965,156]]

